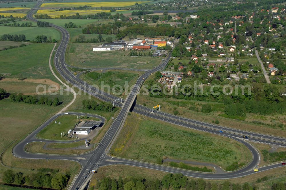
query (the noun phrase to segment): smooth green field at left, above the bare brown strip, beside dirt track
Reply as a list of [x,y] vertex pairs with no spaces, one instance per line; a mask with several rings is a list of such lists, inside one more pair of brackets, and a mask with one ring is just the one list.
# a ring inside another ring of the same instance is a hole
[[0,51],[0,73],[5,73],[7,77],[53,78],[48,62],[53,46],[50,43],[32,43]]

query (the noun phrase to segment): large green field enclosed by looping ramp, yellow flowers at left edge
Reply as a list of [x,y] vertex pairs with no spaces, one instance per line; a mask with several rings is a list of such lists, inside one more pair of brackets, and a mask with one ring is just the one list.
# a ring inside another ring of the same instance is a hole
[[198,132],[132,113],[128,116],[111,154],[156,163],[159,158],[215,163],[226,167],[251,161],[244,145],[222,136]]

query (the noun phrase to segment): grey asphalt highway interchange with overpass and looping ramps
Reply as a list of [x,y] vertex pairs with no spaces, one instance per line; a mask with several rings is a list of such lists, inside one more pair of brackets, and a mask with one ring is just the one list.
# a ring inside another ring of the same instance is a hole
[[[35,9],[31,9],[31,11],[27,14],[27,17],[29,19],[36,21],[36,19],[33,18],[33,13],[37,11],[37,8],[40,7],[41,3],[42,1],[37,1]],[[66,52],[66,48],[69,42],[69,33],[62,27],[59,27],[53,24],[50,24],[50,25],[58,29],[62,34],[61,41],[59,42],[55,55],[54,55],[55,69],[61,75],[61,77],[63,77],[69,84],[76,86],[80,90],[87,92],[88,94],[91,94],[92,96],[99,98],[100,100],[103,100],[106,102],[112,102],[113,100],[117,100],[118,97],[108,94],[93,86],[90,86],[89,84],[86,84],[84,81],[74,76],[74,74],[67,69],[66,67],[67,64],[65,63],[65,52]],[[105,133],[102,140],[100,141],[99,146],[96,147],[94,151],[82,154],[80,156],[79,155],[66,155],[66,156],[44,155],[44,154],[32,154],[32,153],[25,152],[24,148],[27,143],[37,141],[37,140],[40,141],[39,139],[35,139],[35,135],[37,134],[39,130],[47,126],[47,124],[49,124],[49,122],[51,122],[57,116],[55,115],[49,120],[47,120],[37,130],[35,130],[33,133],[27,136],[24,140],[22,140],[19,144],[17,144],[13,148],[13,154],[16,157],[27,158],[27,159],[67,159],[67,160],[72,160],[72,161],[79,161],[79,163],[82,165],[82,169],[78,177],[72,183],[72,186],[69,188],[69,189],[76,189],[77,187],[82,188],[82,185],[88,179],[88,178],[85,178],[85,176],[91,175],[90,173],[88,173],[88,171],[92,169],[97,169],[98,167],[101,167],[104,165],[111,165],[111,164],[125,164],[125,165],[132,165],[132,166],[138,166],[138,167],[146,167],[146,168],[156,169],[160,171],[182,173],[184,175],[191,176],[191,177],[201,177],[201,178],[208,178],[208,179],[227,179],[227,178],[234,178],[234,177],[242,177],[242,176],[250,175],[254,173],[253,168],[257,167],[260,161],[260,155],[258,151],[250,143],[248,143],[246,140],[241,138],[243,135],[249,136],[248,140],[286,147],[286,138],[283,138],[283,137],[243,131],[243,130],[234,129],[234,128],[228,128],[224,126],[219,126],[215,124],[210,124],[206,122],[183,118],[183,117],[175,116],[175,115],[168,114],[165,112],[160,112],[160,111],[151,113],[150,108],[146,108],[145,106],[136,104],[132,108],[132,111],[135,113],[142,114],[144,116],[149,116],[155,119],[160,119],[160,120],[172,123],[172,124],[176,124],[176,125],[180,125],[180,126],[184,126],[188,128],[193,128],[196,130],[211,132],[211,133],[223,135],[229,138],[233,138],[234,140],[237,140],[238,142],[243,143],[245,146],[249,148],[249,150],[251,151],[253,155],[253,159],[249,162],[249,164],[246,167],[242,169],[239,169],[234,172],[224,173],[224,174],[216,174],[216,173],[201,173],[201,172],[187,171],[183,169],[176,169],[176,168],[166,167],[162,165],[156,165],[156,164],[144,163],[144,162],[139,162],[139,161],[133,161],[129,159],[110,157],[108,155],[108,151],[111,146],[110,143],[114,140],[116,134],[119,133],[120,128],[124,124],[127,113],[130,111],[130,108],[132,107],[132,104],[134,103],[134,100],[136,99],[136,96],[138,95],[138,92],[144,80],[148,76],[150,76],[152,73],[165,68],[169,60],[170,60],[170,55],[168,55],[159,66],[151,70],[144,70],[145,73],[142,74],[138,78],[134,88],[132,88],[131,92],[128,94],[126,99],[123,100],[123,104],[116,104],[116,106],[121,107],[120,112],[118,116],[113,120],[112,125],[110,126],[110,128]],[[87,69],[90,69],[90,68],[87,68]],[[99,68],[92,68],[92,69],[99,69]],[[104,68],[104,69],[108,69],[108,68]],[[114,69],[114,68],[110,68],[110,69]],[[79,113],[68,112],[68,114],[79,114]],[[104,120],[104,118],[101,118],[101,119]],[[219,130],[223,130],[223,133],[220,133]],[[277,163],[277,164],[273,164],[269,166],[260,167],[259,172],[268,170],[268,169],[273,169],[276,167],[281,167],[281,164]]]

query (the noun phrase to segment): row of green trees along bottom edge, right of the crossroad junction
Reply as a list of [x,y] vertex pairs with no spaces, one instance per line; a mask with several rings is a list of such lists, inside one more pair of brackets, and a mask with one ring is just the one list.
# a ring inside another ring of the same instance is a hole
[[[267,178],[268,179],[268,178]],[[260,179],[261,182],[261,179]],[[272,188],[283,187],[285,184],[274,183]],[[99,190],[162,190],[162,189],[188,189],[188,190],[254,190],[257,185],[249,185],[249,183],[231,183],[224,181],[223,183],[215,183],[205,181],[204,179],[188,179],[186,176],[176,173],[164,175],[162,180],[159,179],[143,179],[136,177],[128,177],[122,179],[119,176],[117,179],[104,177],[99,180],[96,185],[91,189]]]

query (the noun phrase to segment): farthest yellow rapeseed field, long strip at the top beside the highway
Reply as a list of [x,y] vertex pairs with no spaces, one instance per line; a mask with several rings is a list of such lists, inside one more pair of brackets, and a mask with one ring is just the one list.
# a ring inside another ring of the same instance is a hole
[[126,7],[134,5],[135,3],[142,4],[149,1],[127,1],[127,2],[75,2],[75,3],[43,3],[41,7],[79,7],[79,6],[91,6],[91,7]]

